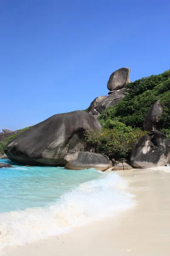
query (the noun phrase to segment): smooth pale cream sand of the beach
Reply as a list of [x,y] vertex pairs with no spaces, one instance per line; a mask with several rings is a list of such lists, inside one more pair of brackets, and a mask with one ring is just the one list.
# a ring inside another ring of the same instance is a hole
[[170,167],[117,173],[136,195],[133,209],[5,256],[170,256]]

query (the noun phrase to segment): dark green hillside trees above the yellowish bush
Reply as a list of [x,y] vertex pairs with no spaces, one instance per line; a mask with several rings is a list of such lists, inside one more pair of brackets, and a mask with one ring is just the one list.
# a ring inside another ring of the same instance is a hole
[[157,100],[163,107],[162,128],[170,127],[170,70],[127,84],[128,95],[113,107],[106,108],[99,120],[115,119],[133,128],[142,128],[144,117]]

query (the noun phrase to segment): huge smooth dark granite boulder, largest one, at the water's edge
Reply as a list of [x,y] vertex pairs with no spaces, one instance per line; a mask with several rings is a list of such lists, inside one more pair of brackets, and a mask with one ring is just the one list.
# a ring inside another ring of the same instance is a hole
[[90,128],[101,125],[85,111],[57,114],[19,134],[4,152],[24,165],[65,166],[77,151],[86,150],[84,132]]

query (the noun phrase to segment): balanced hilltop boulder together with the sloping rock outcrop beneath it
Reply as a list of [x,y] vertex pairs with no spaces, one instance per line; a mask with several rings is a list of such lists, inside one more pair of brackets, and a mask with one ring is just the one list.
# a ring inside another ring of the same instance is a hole
[[108,93],[109,96],[99,96],[96,97],[91,105],[88,107],[88,113],[98,116],[110,106],[116,105],[120,102],[127,92],[124,92],[125,85],[130,83],[129,79],[130,69],[128,67],[122,67],[119,70],[113,72],[108,80]]

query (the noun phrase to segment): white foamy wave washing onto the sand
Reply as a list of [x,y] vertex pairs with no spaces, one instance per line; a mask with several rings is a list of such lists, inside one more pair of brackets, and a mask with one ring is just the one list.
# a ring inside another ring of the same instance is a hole
[[67,233],[128,209],[134,201],[126,188],[119,175],[109,173],[82,183],[49,207],[0,213],[0,250]]

